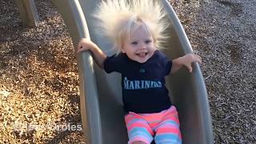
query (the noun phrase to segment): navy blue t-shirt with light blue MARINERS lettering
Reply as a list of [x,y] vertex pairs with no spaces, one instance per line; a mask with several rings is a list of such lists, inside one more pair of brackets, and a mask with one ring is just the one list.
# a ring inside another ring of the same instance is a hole
[[172,62],[159,50],[144,63],[135,62],[126,54],[107,57],[106,73],[122,74],[122,102],[126,112],[158,113],[171,106],[164,77],[170,73]]

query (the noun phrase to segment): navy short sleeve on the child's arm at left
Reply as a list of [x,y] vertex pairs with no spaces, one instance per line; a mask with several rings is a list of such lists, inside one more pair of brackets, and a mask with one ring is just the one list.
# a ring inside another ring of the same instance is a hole
[[115,54],[110,57],[106,57],[106,60],[104,61],[103,65],[104,70],[107,74],[114,71],[121,73],[122,71],[122,60],[120,56],[116,56]]

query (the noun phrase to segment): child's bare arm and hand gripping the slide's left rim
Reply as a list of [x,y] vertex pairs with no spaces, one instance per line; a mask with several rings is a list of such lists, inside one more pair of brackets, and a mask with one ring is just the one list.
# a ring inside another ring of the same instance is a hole
[[104,69],[103,62],[106,60],[106,54],[90,39],[82,38],[78,43],[78,53],[84,50],[90,50],[93,53],[95,62]]

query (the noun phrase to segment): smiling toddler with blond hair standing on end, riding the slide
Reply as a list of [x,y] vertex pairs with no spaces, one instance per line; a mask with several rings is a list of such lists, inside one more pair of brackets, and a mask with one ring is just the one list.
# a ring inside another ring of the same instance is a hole
[[182,143],[178,112],[170,102],[164,78],[182,66],[192,72],[191,63],[201,62],[201,58],[186,54],[170,60],[159,50],[166,38],[165,13],[152,0],[108,0],[98,6],[94,16],[101,20],[102,32],[114,43],[116,54],[106,56],[87,38],[78,43],[78,52],[90,50],[106,73],[122,74],[128,143]]

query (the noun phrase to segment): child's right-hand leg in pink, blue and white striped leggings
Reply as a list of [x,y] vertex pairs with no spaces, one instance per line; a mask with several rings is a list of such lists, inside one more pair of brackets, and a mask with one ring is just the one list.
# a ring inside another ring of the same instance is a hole
[[166,110],[162,122],[155,129],[154,141],[156,144],[180,144],[182,143],[179,130],[178,112],[174,106]]

